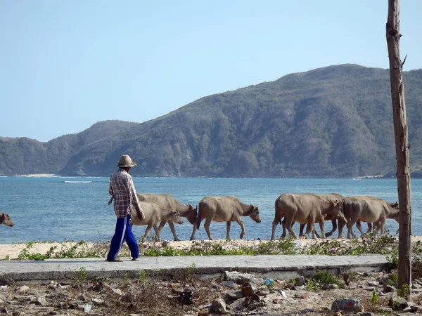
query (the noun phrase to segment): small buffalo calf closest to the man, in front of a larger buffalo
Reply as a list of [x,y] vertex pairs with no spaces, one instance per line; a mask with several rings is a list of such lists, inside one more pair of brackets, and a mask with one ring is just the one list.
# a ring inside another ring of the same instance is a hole
[[130,223],[132,225],[139,225],[139,226],[147,225],[145,229],[145,233],[143,234],[143,237],[141,239],[141,242],[143,242],[146,239],[151,228],[154,228],[155,230],[155,241],[161,240],[160,230],[158,230],[157,223],[162,220],[164,221],[172,220],[175,223],[183,224],[183,220],[181,220],[180,218],[179,211],[175,209],[165,209],[154,202],[139,201],[139,205],[141,206],[143,210],[145,218],[140,220],[138,216],[136,215],[136,209],[132,205],[132,208],[131,208],[132,219],[130,220]]

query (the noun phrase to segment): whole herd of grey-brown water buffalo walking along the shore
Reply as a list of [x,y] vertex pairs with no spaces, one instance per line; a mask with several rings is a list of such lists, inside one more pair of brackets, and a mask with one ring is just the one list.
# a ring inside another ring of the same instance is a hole
[[[160,232],[166,223],[169,224],[175,241],[180,240],[176,235],[174,223],[182,224],[186,218],[193,225],[191,240],[195,239],[195,232],[200,228],[200,223],[205,219],[204,228],[208,238],[212,240],[210,224],[215,222],[226,222],[226,239],[230,239],[231,222],[241,226],[240,238],[245,236],[245,226],[241,216],[250,216],[256,223],[261,222],[260,211],[257,206],[244,204],[237,197],[204,197],[198,206],[183,204],[172,195],[167,194],[137,194],[139,204],[143,209],[145,218],[139,220],[136,211],[132,206],[132,225],[146,225],[142,242],[148,236],[151,228],[155,230],[155,240],[160,240]],[[343,197],[335,193],[329,195],[305,194],[282,194],[275,202],[275,215],[272,223],[271,239],[275,239],[277,225],[283,226],[281,237],[286,237],[286,231],[290,237],[298,238],[293,232],[292,226],[295,222],[300,223],[300,237],[312,237],[319,235],[315,231],[315,223],[319,223],[321,237],[329,237],[338,228],[338,238],[343,237],[343,228],[347,225],[347,238],[356,237],[353,233],[353,225],[365,237],[361,222],[368,223],[368,232],[381,230],[384,233],[385,220],[392,218],[399,222],[399,204],[385,202],[377,197]],[[331,220],[332,230],[325,233],[324,222]],[[160,225],[158,225],[160,222]],[[6,213],[0,213],[0,225],[13,226],[11,217]],[[307,225],[305,235],[303,230]]]

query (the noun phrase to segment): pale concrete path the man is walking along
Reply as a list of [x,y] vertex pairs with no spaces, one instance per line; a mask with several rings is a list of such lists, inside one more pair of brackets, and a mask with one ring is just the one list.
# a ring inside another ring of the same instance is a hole
[[0,261],[0,285],[4,282],[72,282],[87,272],[87,278],[139,277],[144,270],[148,277],[170,278],[195,273],[201,277],[217,277],[224,271],[257,272],[263,277],[290,279],[312,275],[316,270],[346,271],[386,270],[385,255],[362,256],[172,256],[141,257],[138,261],[122,258],[109,263],[104,258],[51,259],[45,261]]

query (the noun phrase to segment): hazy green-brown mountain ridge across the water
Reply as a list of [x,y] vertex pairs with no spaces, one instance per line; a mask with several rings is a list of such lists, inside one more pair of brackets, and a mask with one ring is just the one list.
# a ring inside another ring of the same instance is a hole
[[[418,174],[422,70],[403,77]],[[0,174],[110,176],[122,154],[138,163],[134,176],[394,176],[389,72],[335,65],[200,98],[142,124],[101,121],[46,143],[0,138]]]

